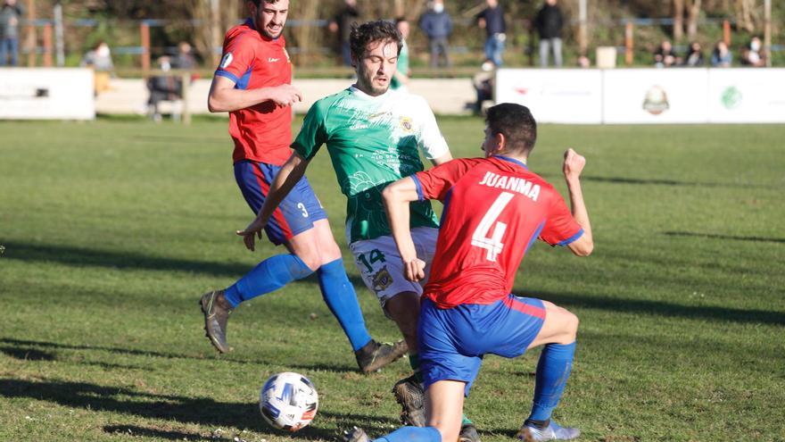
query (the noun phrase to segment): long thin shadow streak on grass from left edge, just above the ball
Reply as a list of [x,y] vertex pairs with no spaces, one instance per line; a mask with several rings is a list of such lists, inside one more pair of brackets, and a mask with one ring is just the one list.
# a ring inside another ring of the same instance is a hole
[[[99,351],[99,352],[108,352],[113,354],[129,354],[135,356],[153,356],[153,357],[161,357],[167,359],[190,359],[194,361],[212,361],[212,360],[221,360],[226,361],[228,363],[241,363],[241,364],[253,364],[253,365],[277,365],[281,362],[270,362],[264,360],[251,360],[251,359],[232,359],[226,356],[215,356],[215,358],[210,356],[196,356],[191,354],[177,354],[177,353],[165,353],[165,352],[155,352],[155,351],[148,351],[148,350],[135,350],[132,348],[121,348],[121,347],[113,347],[113,346],[84,346],[84,345],[74,345],[74,344],[62,344],[58,342],[49,342],[49,341],[32,341],[28,339],[15,339],[15,338],[0,338],[0,343],[3,344],[10,344],[16,347],[2,347],[0,348],[0,352],[9,354],[12,357],[17,359],[28,359],[28,360],[36,360],[36,361],[54,361],[56,358],[54,354],[48,354],[36,349],[31,348],[19,348],[19,346],[40,346],[45,348],[60,348],[66,350],[89,350],[89,351]],[[50,355],[51,359],[45,359],[41,357],[39,359],[31,359],[30,357],[25,358],[25,354],[46,354]],[[112,368],[125,368],[129,370],[148,370],[150,369],[145,367],[138,367],[138,366],[118,366],[117,364],[112,363],[95,363],[95,362],[84,362],[87,365],[99,365],[103,366],[107,369]],[[305,370],[305,371],[335,371],[335,372],[354,372],[357,371],[353,365],[335,365],[335,364],[328,364],[328,363],[315,363],[311,365],[305,364],[291,364],[286,363],[287,367],[291,367],[292,369],[298,370]]]

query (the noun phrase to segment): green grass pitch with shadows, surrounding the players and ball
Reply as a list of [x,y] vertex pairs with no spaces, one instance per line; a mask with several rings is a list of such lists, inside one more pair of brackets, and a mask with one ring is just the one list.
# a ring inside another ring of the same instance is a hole
[[[232,353],[203,338],[198,296],[275,253],[233,234],[251,213],[226,124],[0,122],[0,440],[337,440],[397,425],[389,391],[408,363],[359,374],[312,279],[244,304]],[[483,121],[440,124],[454,154],[479,154]],[[530,166],[563,194],[563,150],[588,159],[595,252],[533,246],[516,293],[582,320],[555,413],[579,440],[785,440],[783,139],[782,125],[541,127]],[[326,152],[309,176],[345,246]],[[368,328],[397,339],[344,258]],[[515,435],[537,356],[486,358],[467,400],[483,442]],[[320,395],[292,436],[256,408],[277,371]]]

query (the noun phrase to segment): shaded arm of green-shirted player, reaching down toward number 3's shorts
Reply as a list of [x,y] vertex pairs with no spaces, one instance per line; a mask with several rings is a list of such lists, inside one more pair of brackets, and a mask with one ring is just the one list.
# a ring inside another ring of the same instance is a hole
[[309,161],[302,158],[300,154],[293,152],[289,160],[281,166],[281,170],[278,171],[276,178],[273,179],[267,198],[265,198],[264,204],[259,209],[256,218],[244,230],[237,230],[237,235],[244,237],[245,246],[249,250],[253,251],[255,248],[254,235],[261,238],[261,230],[267,226],[270,216],[276,211],[278,204],[281,204],[281,201],[289,195],[297,181],[300,181],[302,176],[305,175],[308,163]]

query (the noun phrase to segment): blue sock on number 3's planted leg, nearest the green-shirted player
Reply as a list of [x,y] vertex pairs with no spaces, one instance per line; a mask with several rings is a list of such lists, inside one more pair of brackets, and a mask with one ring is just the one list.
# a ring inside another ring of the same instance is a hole
[[370,342],[371,336],[365,328],[354,286],[343,268],[343,259],[338,258],[319,267],[317,275],[325,304],[341,324],[343,333],[349,338],[351,349],[356,352]]

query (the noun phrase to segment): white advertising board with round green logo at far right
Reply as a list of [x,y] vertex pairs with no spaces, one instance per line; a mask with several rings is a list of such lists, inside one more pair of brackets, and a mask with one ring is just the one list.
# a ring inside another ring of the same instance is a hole
[[708,71],[709,122],[785,122],[785,69]]

